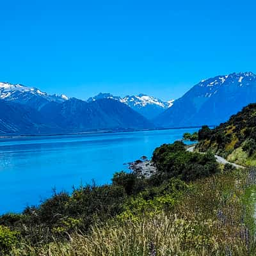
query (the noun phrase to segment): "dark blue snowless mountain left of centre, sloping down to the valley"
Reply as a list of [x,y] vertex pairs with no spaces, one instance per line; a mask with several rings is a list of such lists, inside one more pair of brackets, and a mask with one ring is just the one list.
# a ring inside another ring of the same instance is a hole
[[113,99],[84,102],[72,98],[61,104],[50,102],[40,113],[67,131],[154,128],[154,125],[139,113]]

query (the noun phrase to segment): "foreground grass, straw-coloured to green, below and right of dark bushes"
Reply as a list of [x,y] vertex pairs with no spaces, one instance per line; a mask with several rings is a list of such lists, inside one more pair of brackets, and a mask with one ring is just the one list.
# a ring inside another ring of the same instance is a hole
[[236,170],[200,179],[165,211],[120,214],[87,234],[70,234],[65,243],[23,241],[9,255],[255,255],[255,200],[247,177]]

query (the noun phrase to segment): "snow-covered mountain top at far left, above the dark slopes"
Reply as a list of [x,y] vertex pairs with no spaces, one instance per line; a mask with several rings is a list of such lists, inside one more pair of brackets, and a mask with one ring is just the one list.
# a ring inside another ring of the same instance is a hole
[[68,100],[68,97],[66,95],[49,95],[38,88],[31,88],[22,84],[0,83],[0,99],[40,109],[47,102],[64,102]]

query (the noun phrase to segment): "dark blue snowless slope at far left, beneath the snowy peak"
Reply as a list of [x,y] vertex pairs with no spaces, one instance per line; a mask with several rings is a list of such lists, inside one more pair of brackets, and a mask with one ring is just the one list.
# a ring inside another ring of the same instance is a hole
[[42,134],[60,131],[35,109],[0,100],[0,134]]

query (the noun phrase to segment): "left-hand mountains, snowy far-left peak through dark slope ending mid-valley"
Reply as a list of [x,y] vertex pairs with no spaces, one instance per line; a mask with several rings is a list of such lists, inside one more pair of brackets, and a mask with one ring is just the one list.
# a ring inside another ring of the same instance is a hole
[[153,129],[119,100],[79,100],[22,84],[0,83],[0,134],[49,134],[97,129]]

